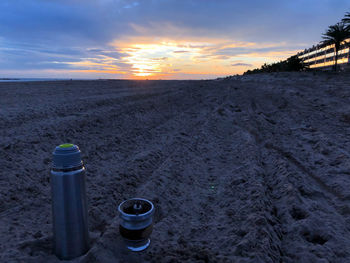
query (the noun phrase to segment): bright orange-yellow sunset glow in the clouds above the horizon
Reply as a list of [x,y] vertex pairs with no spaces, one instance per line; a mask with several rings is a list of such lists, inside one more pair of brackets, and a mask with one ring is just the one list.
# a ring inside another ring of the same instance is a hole
[[[147,28],[133,26],[138,32],[147,33]],[[176,36],[176,30],[171,32],[175,32],[174,38],[121,38],[110,43],[107,51],[99,53],[96,49],[93,57],[57,63],[70,65],[72,72],[122,74],[133,79],[203,78],[205,75],[240,74],[298,51],[289,49],[283,42],[259,44],[208,37],[182,39]]]

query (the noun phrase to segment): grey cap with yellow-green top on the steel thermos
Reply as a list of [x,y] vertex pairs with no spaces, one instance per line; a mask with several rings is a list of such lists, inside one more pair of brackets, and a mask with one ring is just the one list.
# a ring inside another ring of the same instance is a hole
[[52,157],[54,169],[69,169],[83,165],[79,147],[74,144],[65,143],[57,146]]

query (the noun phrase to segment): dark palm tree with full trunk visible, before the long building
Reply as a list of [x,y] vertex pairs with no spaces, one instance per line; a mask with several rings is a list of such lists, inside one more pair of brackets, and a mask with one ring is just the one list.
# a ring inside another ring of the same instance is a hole
[[335,52],[335,63],[334,70],[337,71],[338,63],[338,51],[340,48],[341,42],[350,37],[350,31],[346,28],[344,23],[337,23],[333,26],[329,26],[326,33],[323,34],[322,38],[323,44],[325,45],[334,45]]

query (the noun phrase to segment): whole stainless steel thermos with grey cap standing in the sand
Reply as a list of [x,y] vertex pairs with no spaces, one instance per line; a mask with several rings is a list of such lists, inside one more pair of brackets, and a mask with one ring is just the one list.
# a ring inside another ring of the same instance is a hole
[[89,249],[85,168],[78,146],[61,144],[51,169],[53,249],[60,259],[73,259]]

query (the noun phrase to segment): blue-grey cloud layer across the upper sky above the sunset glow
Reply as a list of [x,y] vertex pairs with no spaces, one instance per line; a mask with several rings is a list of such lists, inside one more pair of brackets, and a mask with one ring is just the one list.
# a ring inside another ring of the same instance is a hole
[[17,40],[100,44],[143,33],[307,42],[319,40],[320,33],[349,8],[345,0],[2,0],[0,31],[4,37]]

